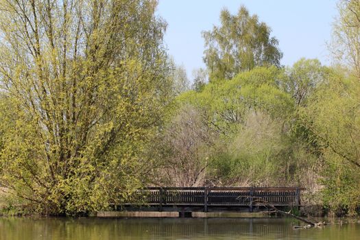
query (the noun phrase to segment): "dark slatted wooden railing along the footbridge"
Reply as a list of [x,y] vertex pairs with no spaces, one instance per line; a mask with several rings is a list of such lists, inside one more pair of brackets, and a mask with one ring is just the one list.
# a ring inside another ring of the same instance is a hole
[[148,187],[143,202],[160,206],[300,206],[300,187]]

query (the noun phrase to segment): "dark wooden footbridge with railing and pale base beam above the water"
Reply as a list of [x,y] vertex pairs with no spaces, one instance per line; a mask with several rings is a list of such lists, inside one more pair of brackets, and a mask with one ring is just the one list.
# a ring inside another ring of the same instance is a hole
[[148,187],[137,191],[136,204],[117,210],[191,212],[256,212],[264,202],[277,208],[298,208],[300,187]]

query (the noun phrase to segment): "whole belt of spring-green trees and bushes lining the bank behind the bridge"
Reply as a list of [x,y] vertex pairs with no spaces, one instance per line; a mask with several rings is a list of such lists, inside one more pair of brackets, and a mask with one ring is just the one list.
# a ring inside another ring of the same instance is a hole
[[331,66],[281,66],[266,23],[222,10],[192,85],[156,4],[0,1],[2,202],[88,215],[149,185],[301,186],[356,215],[360,4],[338,3]]

